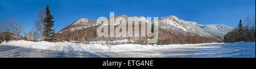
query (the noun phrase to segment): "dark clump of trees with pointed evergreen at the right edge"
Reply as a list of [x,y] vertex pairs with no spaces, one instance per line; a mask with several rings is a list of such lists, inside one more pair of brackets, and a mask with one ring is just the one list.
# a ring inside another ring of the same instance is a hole
[[247,15],[240,22],[237,28],[224,36],[224,42],[255,42],[255,16]]

